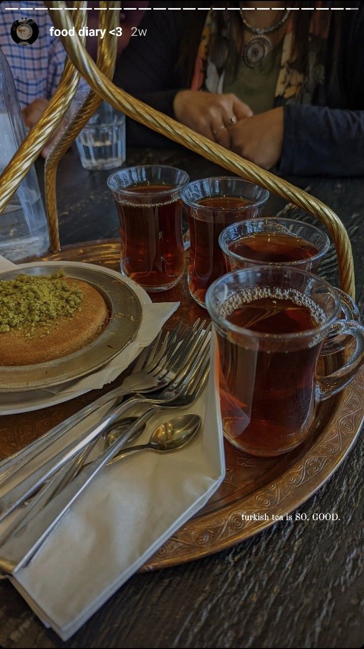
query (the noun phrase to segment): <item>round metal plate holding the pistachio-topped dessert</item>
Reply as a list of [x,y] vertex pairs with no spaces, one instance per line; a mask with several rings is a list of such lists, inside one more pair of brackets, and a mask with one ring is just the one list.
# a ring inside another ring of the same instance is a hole
[[0,367],[0,393],[47,389],[86,376],[115,358],[138,334],[141,303],[130,282],[121,276],[115,277],[86,264],[36,262],[1,273],[0,280],[14,279],[19,273],[53,275],[60,269],[67,277],[87,282],[101,293],[110,320],[100,336],[73,354],[46,363]]

